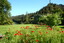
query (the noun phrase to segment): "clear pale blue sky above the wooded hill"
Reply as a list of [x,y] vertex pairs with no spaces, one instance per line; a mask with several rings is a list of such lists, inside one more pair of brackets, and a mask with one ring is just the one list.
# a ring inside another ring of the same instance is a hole
[[[49,0],[8,0],[11,4],[11,16],[34,13],[45,7]],[[63,4],[64,0],[51,0],[51,3]]]

